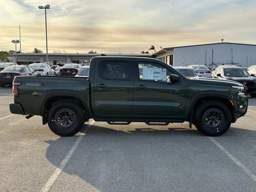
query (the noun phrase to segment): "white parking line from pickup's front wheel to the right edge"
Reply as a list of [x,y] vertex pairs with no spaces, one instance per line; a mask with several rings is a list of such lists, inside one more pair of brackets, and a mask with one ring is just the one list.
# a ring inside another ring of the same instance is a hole
[[246,166],[244,166],[237,158],[235,158],[228,150],[226,150],[218,141],[213,137],[208,137],[222,152],[224,152],[238,167],[240,167],[254,182],[256,182],[256,175],[254,175]]

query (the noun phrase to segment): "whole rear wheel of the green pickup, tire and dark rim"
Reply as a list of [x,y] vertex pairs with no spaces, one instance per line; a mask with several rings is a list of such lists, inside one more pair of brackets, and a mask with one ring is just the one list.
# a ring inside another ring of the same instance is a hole
[[50,108],[47,123],[59,136],[72,136],[80,131],[84,124],[84,111],[75,102],[58,101]]

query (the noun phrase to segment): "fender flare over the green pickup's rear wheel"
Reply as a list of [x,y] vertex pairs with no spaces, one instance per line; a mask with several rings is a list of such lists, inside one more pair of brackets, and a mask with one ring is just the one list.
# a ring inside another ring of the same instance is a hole
[[89,119],[89,117],[90,117],[90,109],[89,109],[89,106],[86,103],[86,100],[84,99],[84,97],[80,93],[78,93],[76,91],[73,91],[73,90],[62,90],[62,89],[49,90],[49,91],[44,93],[44,95],[41,98],[41,106],[40,106],[40,111],[41,111],[42,117],[44,117],[44,107],[45,107],[46,102],[50,98],[56,97],[56,96],[59,96],[60,99],[63,96],[68,96],[68,97],[73,97],[73,98],[76,98],[77,100],[79,100],[79,102],[81,102],[82,106],[85,108],[86,116]]

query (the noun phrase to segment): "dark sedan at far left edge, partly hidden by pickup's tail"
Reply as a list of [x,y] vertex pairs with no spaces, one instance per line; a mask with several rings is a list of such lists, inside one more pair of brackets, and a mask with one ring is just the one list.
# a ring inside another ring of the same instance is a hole
[[0,87],[5,85],[12,85],[14,77],[22,75],[38,75],[39,72],[35,71],[30,66],[13,65],[4,68],[0,72]]

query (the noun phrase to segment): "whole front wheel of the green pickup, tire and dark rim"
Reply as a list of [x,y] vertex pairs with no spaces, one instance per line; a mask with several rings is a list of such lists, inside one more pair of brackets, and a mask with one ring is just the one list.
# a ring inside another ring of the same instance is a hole
[[206,101],[196,108],[193,122],[202,134],[220,136],[230,128],[232,116],[224,103]]

